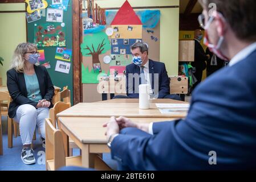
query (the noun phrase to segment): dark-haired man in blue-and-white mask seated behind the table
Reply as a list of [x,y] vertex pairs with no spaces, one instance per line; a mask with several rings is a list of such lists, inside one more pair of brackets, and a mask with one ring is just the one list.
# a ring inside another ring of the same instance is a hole
[[114,98],[139,98],[139,85],[150,85],[151,95],[155,98],[181,100],[177,94],[170,94],[170,81],[165,64],[148,59],[148,45],[137,42],[131,46],[133,63],[125,68],[127,96]]

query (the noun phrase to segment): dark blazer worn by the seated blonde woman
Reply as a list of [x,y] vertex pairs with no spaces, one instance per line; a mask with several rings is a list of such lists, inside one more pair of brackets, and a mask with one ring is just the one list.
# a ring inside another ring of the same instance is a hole
[[[43,66],[35,66],[36,77],[38,78],[40,93],[43,99],[50,101],[54,96],[54,85],[51,78]],[[27,88],[23,73],[18,73],[15,69],[7,71],[7,88],[13,101],[11,101],[8,114],[10,118],[14,118],[16,111],[20,105],[30,104],[36,106],[38,102],[31,101],[27,98]],[[52,104],[51,106],[52,107]]]

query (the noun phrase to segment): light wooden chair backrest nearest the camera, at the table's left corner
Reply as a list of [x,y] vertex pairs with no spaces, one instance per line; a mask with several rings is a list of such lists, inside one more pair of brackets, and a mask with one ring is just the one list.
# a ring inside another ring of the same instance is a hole
[[50,118],[46,118],[46,162],[54,160],[54,170],[66,166],[62,132],[55,129]]

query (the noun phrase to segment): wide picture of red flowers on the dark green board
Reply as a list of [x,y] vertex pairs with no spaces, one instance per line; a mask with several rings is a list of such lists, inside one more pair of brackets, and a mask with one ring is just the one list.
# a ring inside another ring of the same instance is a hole
[[65,47],[66,27],[60,23],[35,24],[34,43],[37,47]]

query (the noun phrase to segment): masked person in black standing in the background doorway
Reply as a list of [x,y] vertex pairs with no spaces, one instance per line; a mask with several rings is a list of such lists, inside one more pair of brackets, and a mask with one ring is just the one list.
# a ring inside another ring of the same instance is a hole
[[191,63],[193,67],[196,67],[196,72],[194,76],[197,78],[197,82],[193,85],[193,89],[200,84],[202,80],[202,71],[206,68],[205,61],[210,59],[210,55],[206,55],[204,49],[202,48],[200,41],[202,40],[202,31],[194,31],[194,61]]

